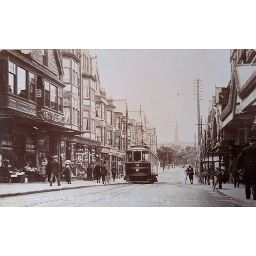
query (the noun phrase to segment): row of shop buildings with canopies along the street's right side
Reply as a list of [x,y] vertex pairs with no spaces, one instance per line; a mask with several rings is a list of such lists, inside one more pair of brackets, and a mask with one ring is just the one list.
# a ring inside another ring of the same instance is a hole
[[201,164],[204,168],[227,168],[255,135],[256,51],[230,50],[230,81],[216,87],[209,102],[209,114],[203,130]]

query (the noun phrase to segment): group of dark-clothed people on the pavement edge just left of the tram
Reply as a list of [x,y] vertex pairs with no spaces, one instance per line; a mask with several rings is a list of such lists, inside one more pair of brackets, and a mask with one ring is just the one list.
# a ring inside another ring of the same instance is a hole
[[[87,180],[92,180],[92,172],[93,172],[92,165],[89,164],[87,168]],[[111,173],[112,173],[113,181],[115,181],[116,173],[117,173],[117,169],[115,165],[113,165],[111,169]],[[106,174],[108,174],[108,170],[106,169],[106,162],[104,161],[102,165],[100,165],[100,163],[97,163],[94,168],[94,176],[97,180],[97,183],[100,183],[100,177],[101,177],[102,184],[104,184]]]

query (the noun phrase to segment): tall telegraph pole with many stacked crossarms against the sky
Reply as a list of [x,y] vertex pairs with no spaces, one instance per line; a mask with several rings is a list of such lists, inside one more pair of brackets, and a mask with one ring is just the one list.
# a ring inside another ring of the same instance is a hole
[[198,167],[201,174],[201,133],[202,123],[200,122],[200,100],[203,99],[203,80],[193,80],[193,100],[197,100],[197,125],[198,125]]

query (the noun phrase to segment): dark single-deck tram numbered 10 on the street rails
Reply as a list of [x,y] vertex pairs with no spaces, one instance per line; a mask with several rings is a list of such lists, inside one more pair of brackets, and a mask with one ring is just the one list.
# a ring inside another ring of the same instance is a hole
[[147,145],[131,146],[126,152],[125,180],[129,183],[154,183],[158,178],[158,158]]

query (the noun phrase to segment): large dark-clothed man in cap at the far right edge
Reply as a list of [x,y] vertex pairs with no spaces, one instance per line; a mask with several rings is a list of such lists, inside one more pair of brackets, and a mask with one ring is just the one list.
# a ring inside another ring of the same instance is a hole
[[253,200],[256,200],[256,137],[250,137],[249,144],[237,158],[237,169],[244,171],[246,199],[250,199],[252,189]]

